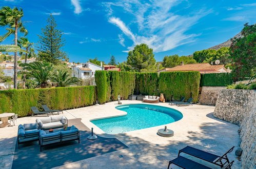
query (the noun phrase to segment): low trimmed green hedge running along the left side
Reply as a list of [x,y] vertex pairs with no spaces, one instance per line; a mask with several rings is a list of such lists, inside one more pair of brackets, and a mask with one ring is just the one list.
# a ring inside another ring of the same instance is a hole
[[47,89],[25,89],[0,91],[0,113],[13,112],[19,117],[31,115],[30,107],[42,110],[47,104],[50,109],[65,110],[92,105],[95,87],[68,87]]

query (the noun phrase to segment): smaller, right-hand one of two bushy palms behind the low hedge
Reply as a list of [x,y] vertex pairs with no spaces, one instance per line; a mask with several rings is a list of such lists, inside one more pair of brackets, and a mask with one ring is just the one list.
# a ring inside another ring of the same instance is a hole
[[52,81],[57,82],[57,87],[66,87],[70,85],[77,85],[79,79],[77,77],[70,77],[67,71],[55,71]]

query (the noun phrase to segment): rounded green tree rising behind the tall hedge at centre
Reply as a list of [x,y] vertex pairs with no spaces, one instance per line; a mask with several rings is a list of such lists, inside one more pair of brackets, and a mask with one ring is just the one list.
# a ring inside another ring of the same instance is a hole
[[133,50],[129,51],[127,65],[131,66],[133,72],[145,72],[155,67],[153,49],[146,44],[136,45]]

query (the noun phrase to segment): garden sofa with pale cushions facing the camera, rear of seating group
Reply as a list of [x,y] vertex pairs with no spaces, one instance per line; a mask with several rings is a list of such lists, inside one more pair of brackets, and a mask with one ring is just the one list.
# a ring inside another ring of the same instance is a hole
[[65,116],[51,116],[36,119],[38,129],[53,129],[62,128],[64,124],[68,124],[68,119]]

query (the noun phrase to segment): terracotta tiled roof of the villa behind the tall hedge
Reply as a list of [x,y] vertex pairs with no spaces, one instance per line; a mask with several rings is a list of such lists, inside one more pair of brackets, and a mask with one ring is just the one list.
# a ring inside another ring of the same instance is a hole
[[[179,65],[175,66],[173,68],[165,68],[165,71],[171,72],[171,71],[210,71],[210,72],[218,72],[218,70],[224,69],[227,71],[227,69],[224,67],[224,65],[210,65],[208,63],[205,64],[187,64],[187,65]],[[164,69],[162,69],[164,70]],[[159,70],[161,71],[161,70]]]

